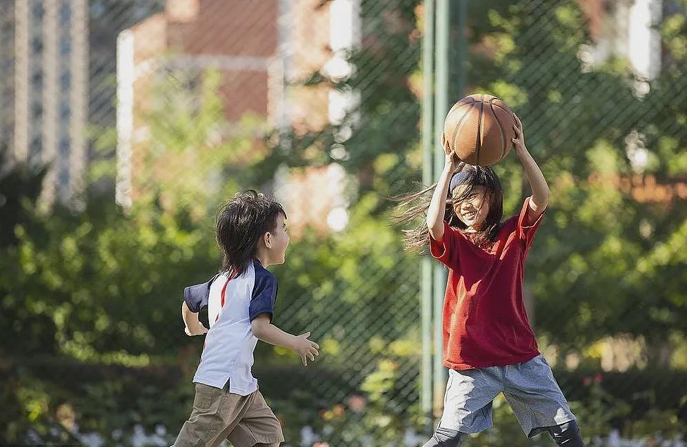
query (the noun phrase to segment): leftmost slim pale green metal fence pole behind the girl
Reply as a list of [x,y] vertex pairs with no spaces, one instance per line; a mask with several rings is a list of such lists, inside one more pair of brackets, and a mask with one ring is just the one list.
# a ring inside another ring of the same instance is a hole
[[[434,0],[424,3],[424,34],[422,39],[422,183],[431,185],[432,176],[432,101],[434,97]],[[422,362],[420,366],[420,408],[432,430],[432,259],[421,261],[420,313]]]

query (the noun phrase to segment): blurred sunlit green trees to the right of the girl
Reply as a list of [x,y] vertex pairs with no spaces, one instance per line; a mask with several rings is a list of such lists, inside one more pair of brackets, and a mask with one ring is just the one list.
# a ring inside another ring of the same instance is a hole
[[[584,62],[593,42],[574,2],[470,3],[469,17],[470,91],[514,107],[552,187],[528,262],[537,328],[571,346],[617,333],[665,344],[684,333],[687,302],[677,292],[687,287],[678,248],[684,198],[639,202],[619,187],[622,178],[652,175],[669,184],[687,172],[681,14],[661,25],[669,52],[644,95],[627,61]],[[644,167],[633,160],[633,138],[646,148]],[[496,169],[515,211],[528,194],[521,168],[510,157]]]

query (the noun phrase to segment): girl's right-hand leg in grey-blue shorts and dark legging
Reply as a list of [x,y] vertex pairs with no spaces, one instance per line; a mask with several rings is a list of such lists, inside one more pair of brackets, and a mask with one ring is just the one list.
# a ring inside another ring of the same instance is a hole
[[[537,355],[528,362],[505,366],[506,389],[504,396],[515,413],[525,435],[535,436],[549,431],[558,442],[579,437],[568,401],[558,386],[550,366],[543,356]],[[581,441],[581,437],[579,437]],[[582,444],[579,444],[582,445]]]

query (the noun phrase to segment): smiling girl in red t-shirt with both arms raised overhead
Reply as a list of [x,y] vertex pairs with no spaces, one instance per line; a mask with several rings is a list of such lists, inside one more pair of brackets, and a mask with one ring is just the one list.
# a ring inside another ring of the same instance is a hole
[[[444,415],[424,447],[457,447],[466,433],[492,426],[492,400],[504,393],[528,437],[548,431],[559,446],[584,446],[575,415],[539,354],[522,300],[525,259],[548,204],[549,189],[525,147],[516,118],[515,155],[532,196],[501,222],[503,192],[490,167],[461,163],[446,144],[446,163],[426,211],[426,225],[406,231],[406,245],[424,246],[448,267],[444,297],[444,365],[449,369]],[[426,206],[406,196],[409,221]]]

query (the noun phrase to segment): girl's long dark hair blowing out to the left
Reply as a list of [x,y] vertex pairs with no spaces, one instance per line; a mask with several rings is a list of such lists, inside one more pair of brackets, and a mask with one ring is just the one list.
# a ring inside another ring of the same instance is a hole
[[[461,191],[460,194],[457,194],[459,188],[448,191],[444,222],[461,230],[466,229],[466,225],[456,216],[453,205],[466,200],[474,187],[484,186],[486,189],[485,200],[489,201],[489,214],[484,220],[484,226],[479,231],[470,233],[470,240],[480,247],[490,245],[497,238],[501,229],[501,218],[504,215],[504,191],[501,188],[501,181],[494,170],[488,166],[459,163],[456,172],[461,173],[461,185],[469,185],[469,187]],[[429,230],[425,219],[435,187],[437,187],[436,183],[421,191],[404,194],[393,199],[399,202],[399,210],[401,211],[396,216],[396,222],[401,225],[415,225],[415,227],[403,230],[404,244],[408,251],[424,251],[428,245]]]

